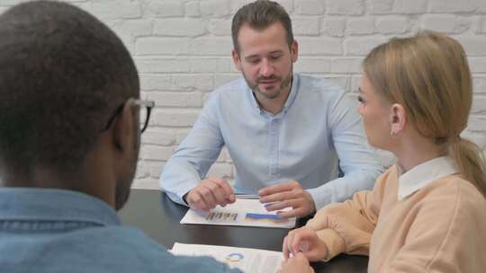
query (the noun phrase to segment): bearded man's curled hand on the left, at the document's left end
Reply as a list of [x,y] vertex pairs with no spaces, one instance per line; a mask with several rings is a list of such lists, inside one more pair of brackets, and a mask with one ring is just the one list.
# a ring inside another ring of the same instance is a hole
[[222,178],[207,178],[184,195],[184,201],[194,210],[208,212],[218,205],[224,207],[236,200],[228,181]]

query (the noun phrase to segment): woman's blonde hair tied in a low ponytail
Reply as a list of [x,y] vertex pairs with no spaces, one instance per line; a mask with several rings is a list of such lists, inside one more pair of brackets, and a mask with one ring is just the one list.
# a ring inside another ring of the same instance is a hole
[[486,198],[481,149],[460,137],[473,102],[473,80],[461,44],[433,31],[394,38],[370,52],[363,70],[380,96],[403,105],[420,135],[446,145],[463,177]]

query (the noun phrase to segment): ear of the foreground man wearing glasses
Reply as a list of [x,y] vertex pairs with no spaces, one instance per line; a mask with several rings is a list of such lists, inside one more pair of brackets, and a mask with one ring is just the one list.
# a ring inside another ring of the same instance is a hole
[[133,100],[129,100],[123,105],[120,115],[113,122],[113,141],[120,152],[126,152],[133,147],[135,130],[135,119],[133,118]]

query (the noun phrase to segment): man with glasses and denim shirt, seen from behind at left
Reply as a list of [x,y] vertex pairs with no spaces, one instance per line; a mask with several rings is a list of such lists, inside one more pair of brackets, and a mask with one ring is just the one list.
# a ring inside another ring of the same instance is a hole
[[239,272],[121,225],[154,103],[112,31],[37,1],[0,37],[0,272]]

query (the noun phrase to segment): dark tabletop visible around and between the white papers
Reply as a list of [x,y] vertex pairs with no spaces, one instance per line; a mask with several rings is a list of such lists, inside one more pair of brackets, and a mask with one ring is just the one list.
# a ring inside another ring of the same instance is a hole
[[[187,207],[172,202],[158,190],[132,189],[119,216],[126,225],[138,227],[152,239],[172,248],[174,242],[225,245],[267,251],[282,251],[288,230],[223,225],[181,225]],[[316,262],[316,272],[366,272],[368,259],[340,255],[329,262]]]

